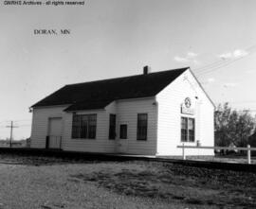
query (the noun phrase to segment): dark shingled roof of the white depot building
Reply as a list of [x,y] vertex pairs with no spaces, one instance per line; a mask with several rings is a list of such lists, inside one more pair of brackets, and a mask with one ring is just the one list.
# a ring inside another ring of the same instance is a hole
[[92,110],[102,109],[117,99],[155,96],[187,69],[65,85],[32,108],[70,104],[65,111]]

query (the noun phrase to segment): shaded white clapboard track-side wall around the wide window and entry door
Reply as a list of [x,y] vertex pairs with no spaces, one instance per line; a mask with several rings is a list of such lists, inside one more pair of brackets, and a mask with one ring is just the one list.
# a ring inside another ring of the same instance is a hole
[[[156,112],[155,99],[126,99],[113,102],[102,111],[86,111],[78,113],[97,113],[96,139],[72,139],[72,113],[65,115],[64,150],[108,152],[116,151],[119,137],[119,121],[128,124],[128,148],[125,153],[155,154],[156,144]],[[117,139],[109,140],[109,114],[117,114]],[[148,140],[137,141],[137,113],[148,113]]]

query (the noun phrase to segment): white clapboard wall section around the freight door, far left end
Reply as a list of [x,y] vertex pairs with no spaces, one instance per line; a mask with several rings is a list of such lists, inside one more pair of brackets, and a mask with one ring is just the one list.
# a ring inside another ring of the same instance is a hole
[[64,131],[64,112],[67,106],[34,108],[31,130],[31,148],[46,148],[49,118],[62,117]]

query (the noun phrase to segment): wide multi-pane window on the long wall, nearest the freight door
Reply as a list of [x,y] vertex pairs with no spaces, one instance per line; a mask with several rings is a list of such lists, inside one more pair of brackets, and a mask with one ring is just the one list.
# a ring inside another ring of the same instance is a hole
[[96,114],[73,114],[72,138],[95,139],[96,138]]

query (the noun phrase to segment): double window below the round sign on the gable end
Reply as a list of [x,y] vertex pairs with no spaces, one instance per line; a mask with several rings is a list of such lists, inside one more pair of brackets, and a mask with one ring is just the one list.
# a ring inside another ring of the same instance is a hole
[[194,142],[194,118],[181,117],[181,142]]

